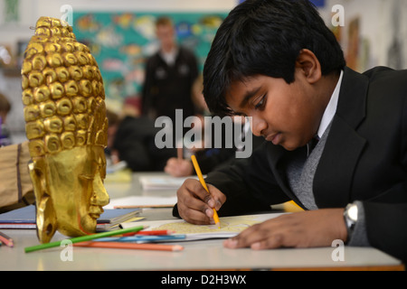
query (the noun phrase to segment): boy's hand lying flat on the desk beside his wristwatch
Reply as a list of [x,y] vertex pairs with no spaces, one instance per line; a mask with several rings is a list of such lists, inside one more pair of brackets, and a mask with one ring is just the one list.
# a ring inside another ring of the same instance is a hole
[[224,241],[224,247],[271,249],[278,247],[330,247],[345,242],[344,209],[311,210],[286,214],[251,226]]

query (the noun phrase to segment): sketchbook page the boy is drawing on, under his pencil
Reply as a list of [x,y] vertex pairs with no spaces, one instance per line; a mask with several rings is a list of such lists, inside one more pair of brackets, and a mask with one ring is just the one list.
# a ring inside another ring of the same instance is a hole
[[147,226],[147,230],[168,229],[175,234],[185,234],[185,240],[197,240],[204,238],[232,238],[239,234],[245,228],[249,228],[254,224],[260,223],[266,219],[273,219],[281,214],[261,214],[261,215],[246,215],[222,217],[221,228],[213,225],[193,225],[185,222],[184,219],[156,220],[156,221],[139,221],[137,223],[120,224],[122,228],[131,228],[134,226]]

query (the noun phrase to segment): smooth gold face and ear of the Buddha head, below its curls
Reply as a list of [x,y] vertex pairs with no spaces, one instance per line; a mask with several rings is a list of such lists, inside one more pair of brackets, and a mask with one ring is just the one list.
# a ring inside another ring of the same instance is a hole
[[74,147],[47,155],[34,167],[40,240],[49,242],[56,229],[71,237],[94,233],[102,207],[109,203],[103,186],[106,173],[103,147]]

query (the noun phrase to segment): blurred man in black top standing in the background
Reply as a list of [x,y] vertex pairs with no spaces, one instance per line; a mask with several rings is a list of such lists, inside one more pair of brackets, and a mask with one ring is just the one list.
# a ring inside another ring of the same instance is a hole
[[170,117],[173,122],[175,109],[183,109],[184,118],[194,116],[192,87],[198,76],[194,53],[176,43],[170,18],[157,19],[156,37],[160,49],[147,60],[142,113],[152,119]]

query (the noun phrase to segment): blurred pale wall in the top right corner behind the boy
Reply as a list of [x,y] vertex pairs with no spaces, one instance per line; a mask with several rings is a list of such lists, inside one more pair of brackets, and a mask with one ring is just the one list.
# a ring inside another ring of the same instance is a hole
[[407,68],[407,1],[327,0],[321,12],[327,23],[332,20],[334,5],[345,8],[340,42],[353,69],[365,71],[379,65]]

